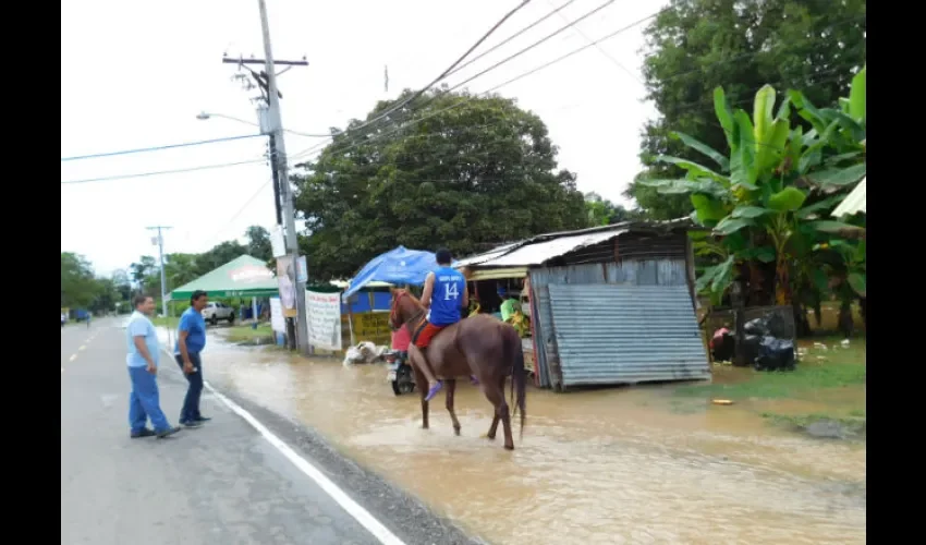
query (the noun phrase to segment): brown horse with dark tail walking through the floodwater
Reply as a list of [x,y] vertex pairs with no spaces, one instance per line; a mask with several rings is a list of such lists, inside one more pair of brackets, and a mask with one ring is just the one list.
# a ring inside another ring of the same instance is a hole
[[[398,329],[407,325],[414,330],[426,317],[425,307],[421,301],[406,290],[392,292],[392,310],[389,314],[389,325]],[[415,382],[427,384],[421,371],[421,351],[409,347],[409,360],[415,370]],[[453,412],[453,393],[456,390],[456,377],[473,375],[479,379],[479,385],[486,398],[495,405],[495,416],[486,437],[496,438],[498,423],[501,421],[504,431],[504,448],[514,449],[511,437],[511,415],[504,400],[504,382],[511,375],[511,402],[515,412],[521,412],[521,435],[524,435],[525,419],[525,373],[524,351],[521,337],[510,324],[492,316],[479,314],[448,326],[434,337],[425,349],[425,355],[434,370],[435,376],[442,378],[447,390],[447,411],[453,422],[453,432],[460,435],[460,421]],[[422,387],[422,427],[428,428],[428,402],[425,401],[427,388]],[[516,392],[516,403],[515,403]]]

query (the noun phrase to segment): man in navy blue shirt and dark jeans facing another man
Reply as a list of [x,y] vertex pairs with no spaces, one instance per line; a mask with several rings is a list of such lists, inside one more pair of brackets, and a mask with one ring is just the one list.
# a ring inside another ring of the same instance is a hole
[[209,420],[199,413],[199,397],[203,393],[203,360],[199,352],[206,348],[206,320],[202,311],[208,302],[209,296],[205,291],[194,291],[190,298],[190,308],[180,316],[176,328],[173,354],[190,383],[180,409],[180,424],[186,427],[199,427]]

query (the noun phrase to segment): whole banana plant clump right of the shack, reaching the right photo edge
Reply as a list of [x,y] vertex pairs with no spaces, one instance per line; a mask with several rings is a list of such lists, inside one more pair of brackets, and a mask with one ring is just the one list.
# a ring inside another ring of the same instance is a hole
[[[817,110],[799,92],[790,92],[777,107],[776,92],[764,86],[755,96],[753,117],[742,109],[733,110],[722,88],[715,89],[715,109],[724,129],[730,153],[721,154],[705,143],[673,133],[693,152],[709,158],[717,170],[687,159],[659,156],[658,160],[686,171],[684,180],[649,180],[647,186],[665,194],[690,195],[700,225],[710,227],[719,241],[700,242],[702,250],[720,257],[698,278],[702,289],[717,302],[736,276],[738,265],[756,270],[756,262],[775,263],[775,299],[777,304],[795,304],[795,317],[805,316],[793,298],[795,283],[809,282],[817,266],[814,252],[828,250],[832,234],[858,231],[839,221],[820,219],[844,197],[845,189],[866,171],[866,73],[853,76],[849,98],[840,99],[841,109]],[[814,125],[808,132],[792,129],[792,105],[800,116]],[[862,255],[846,252],[846,267],[855,267],[846,284],[858,286],[864,296],[864,245]],[[792,278],[794,271],[799,278]],[[755,286],[756,277],[748,275]],[[795,280],[797,280],[795,282]],[[826,278],[823,279],[826,283]],[[825,289],[825,288],[823,288]],[[804,318],[805,319],[805,318]]]

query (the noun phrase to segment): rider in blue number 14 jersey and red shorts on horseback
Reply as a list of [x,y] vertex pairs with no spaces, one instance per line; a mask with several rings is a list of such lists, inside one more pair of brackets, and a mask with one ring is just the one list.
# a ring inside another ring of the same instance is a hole
[[443,383],[435,377],[430,363],[425,355],[425,349],[441,329],[460,322],[460,311],[470,306],[466,279],[450,266],[453,263],[450,251],[438,250],[435,257],[438,268],[428,272],[425,279],[424,293],[422,293],[422,304],[428,310],[428,313],[421,325],[412,331],[412,342],[421,351],[421,371],[428,380],[426,401],[430,401],[437,396]]

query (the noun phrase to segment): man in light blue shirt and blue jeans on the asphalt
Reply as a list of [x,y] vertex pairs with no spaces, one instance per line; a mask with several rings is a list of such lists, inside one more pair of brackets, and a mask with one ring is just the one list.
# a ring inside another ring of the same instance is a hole
[[[145,295],[135,295],[135,312],[125,326],[125,341],[129,355],[129,378],[132,382],[132,393],[129,396],[129,425],[131,437],[168,437],[180,432],[171,426],[161,411],[160,393],[158,391],[158,360],[160,344],[155,325],[148,318],[155,312],[155,300]],[[155,429],[145,426],[151,420]]]

